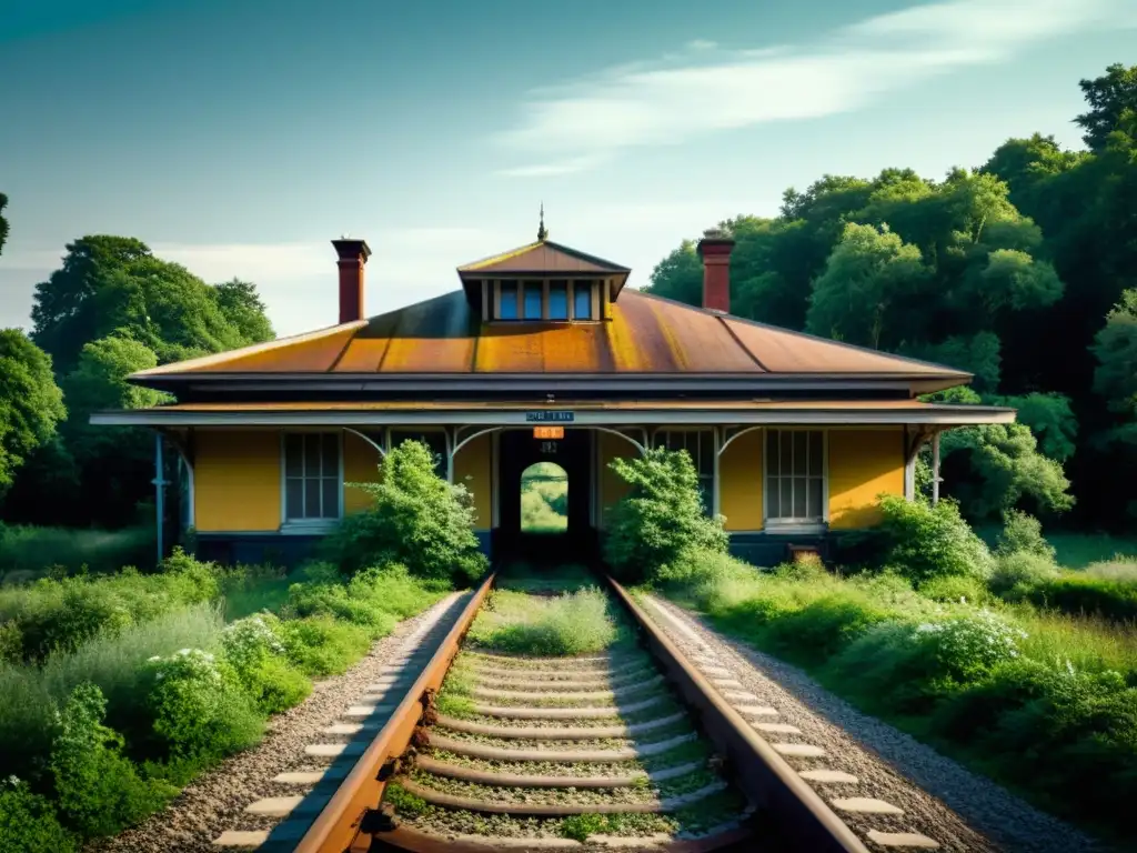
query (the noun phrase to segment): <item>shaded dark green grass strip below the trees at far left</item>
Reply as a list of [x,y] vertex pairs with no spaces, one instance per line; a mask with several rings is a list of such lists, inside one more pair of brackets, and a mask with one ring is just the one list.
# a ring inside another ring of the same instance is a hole
[[85,565],[93,573],[124,565],[152,568],[153,527],[84,530],[0,523],[0,583],[34,580],[52,568],[74,573]]

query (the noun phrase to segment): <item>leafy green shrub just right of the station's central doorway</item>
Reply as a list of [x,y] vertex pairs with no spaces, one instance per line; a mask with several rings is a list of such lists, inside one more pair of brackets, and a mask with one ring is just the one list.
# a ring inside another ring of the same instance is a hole
[[608,512],[604,557],[619,577],[654,580],[684,550],[727,552],[723,519],[703,512],[699,480],[686,450],[647,450],[611,467],[631,487]]

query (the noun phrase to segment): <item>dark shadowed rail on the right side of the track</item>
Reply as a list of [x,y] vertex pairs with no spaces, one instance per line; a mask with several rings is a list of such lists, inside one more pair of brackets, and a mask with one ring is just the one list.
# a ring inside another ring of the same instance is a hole
[[769,812],[794,850],[811,853],[869,853],[869,848],[811,788],[794,768],[719,695],[628,591],[608,577],[616,597],[644,631],[648,648],[663,664],[687,704],[695,709],[704,734],[723,757],[750,804]]

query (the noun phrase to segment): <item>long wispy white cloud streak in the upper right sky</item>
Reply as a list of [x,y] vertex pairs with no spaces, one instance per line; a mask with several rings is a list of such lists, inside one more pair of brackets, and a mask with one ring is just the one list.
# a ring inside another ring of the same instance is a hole
[[498,135],[516,177],[595,167],[636,146],[862,109],[888,92],[969,66],[1006,61],[1039,42],[1137,26],[1132,0],[948,0],[880,15],[810,44],[723,50],[690,42],[533,90],[520,124]]

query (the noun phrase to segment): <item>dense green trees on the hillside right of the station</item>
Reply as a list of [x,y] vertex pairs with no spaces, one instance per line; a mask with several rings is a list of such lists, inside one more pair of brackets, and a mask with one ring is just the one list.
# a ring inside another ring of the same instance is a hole
[[[1072,481],[1084,521],[1121,521],[1137,481],[1137,67],[1081,88],[1089,151],[1035,134],[978,171],[824,175],[774,218],[719,223],[733,313],[966,370],[973,401],[1019,409],[945,441],[945,490],[976,519],[1064,511]],[[648,289],[699,303],[694,241]]]

